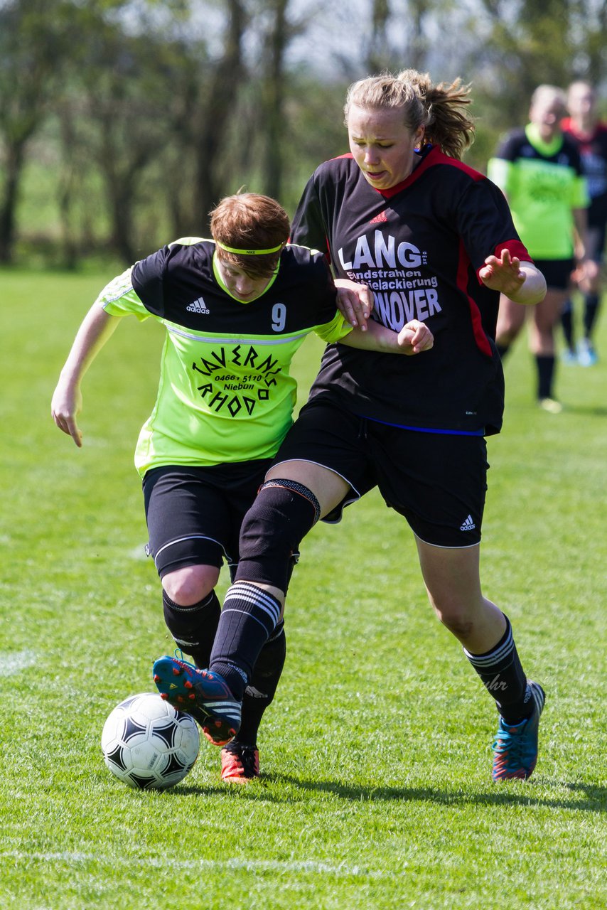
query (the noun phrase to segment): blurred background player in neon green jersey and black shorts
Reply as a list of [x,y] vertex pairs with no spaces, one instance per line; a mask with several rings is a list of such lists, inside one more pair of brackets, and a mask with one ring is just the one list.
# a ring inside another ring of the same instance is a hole
[[[533,308],[530,347],[537,368],[537,399],[543,410],[561,411],[554,397],[554,327],[574,266],[586,261],[588,191],[580,152],[563,136],[565,96],[555,86],[538,86],[531,96],[530,122],[513,130],[491,158],[488,174],[506,195],[521,240],[541,269],[548,290]],[[527,309],[501,296],[497,344],[505,356],[519,335]]]

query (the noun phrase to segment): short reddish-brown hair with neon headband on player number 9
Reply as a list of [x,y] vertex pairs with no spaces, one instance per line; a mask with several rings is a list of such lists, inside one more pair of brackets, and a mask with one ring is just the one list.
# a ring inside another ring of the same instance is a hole
[[[209,215],[216,243],[238,250],[231,252],[218,246],[218,258],[242,268],[250,278],[272,275],[290,233],[287,212],[276,199],[258,193],[237,193],[224,197]],[[274,248],[278,249],[272,253],[246,252]]]

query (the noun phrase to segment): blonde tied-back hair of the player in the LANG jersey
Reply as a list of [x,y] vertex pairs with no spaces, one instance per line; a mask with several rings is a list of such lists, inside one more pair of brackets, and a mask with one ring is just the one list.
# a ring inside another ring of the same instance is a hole
[[466,110],[470,101],[470,86],[463,86],[460,78],[450,85],[440,82],[433,86],[428,73],[403,69],[396,76],[382,73],[352,83],[344,105],[344,122],[348,126],[352,106],[400,108],[403,123],[412,132],[425,126],[423,146],[431,143],[446,155],[460,158],[474,140],[474,121]]

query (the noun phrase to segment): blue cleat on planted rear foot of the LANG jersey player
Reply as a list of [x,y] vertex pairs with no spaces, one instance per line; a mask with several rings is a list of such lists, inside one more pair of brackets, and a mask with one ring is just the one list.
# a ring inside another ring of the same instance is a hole
[[526,781],[535,768],[538,760],[538,727],[546,696],[541,685],[529,682],[533,713],[515,726],[505,723],[500,718],[498,732],[493,741],[493,768],[491,778],[494,781]]

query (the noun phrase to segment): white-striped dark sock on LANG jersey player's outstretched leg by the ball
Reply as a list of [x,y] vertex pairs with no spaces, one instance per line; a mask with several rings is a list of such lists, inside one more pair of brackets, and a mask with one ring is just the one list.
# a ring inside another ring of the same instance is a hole
[[257,584],[236,581],[228,588],[209,669],[223,676],[236,699],[242,699],[279,617],[280,603]]

